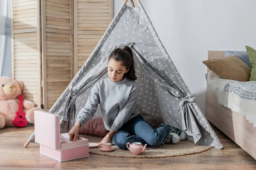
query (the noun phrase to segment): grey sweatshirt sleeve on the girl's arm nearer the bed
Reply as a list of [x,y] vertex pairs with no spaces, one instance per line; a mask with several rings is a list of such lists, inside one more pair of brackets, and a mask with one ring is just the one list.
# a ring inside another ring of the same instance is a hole
[[111,127],[111,129],[113,129],[115,132],[117,132],[122,127],[122,125],[124,125],[128,121],[131,114],[134,112],[138,103],[137,89],[137,85],[135,85],[135,87],[131,91],[127,103],[117,114],[116,119],[114,120],[113,125]]

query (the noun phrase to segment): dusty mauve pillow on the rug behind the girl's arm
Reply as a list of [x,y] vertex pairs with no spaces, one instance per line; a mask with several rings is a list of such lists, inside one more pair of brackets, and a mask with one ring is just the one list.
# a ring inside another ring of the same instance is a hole
[[105,130],[102,117],[90,119],[79,128],[79,133],[105,137],[108,130]]

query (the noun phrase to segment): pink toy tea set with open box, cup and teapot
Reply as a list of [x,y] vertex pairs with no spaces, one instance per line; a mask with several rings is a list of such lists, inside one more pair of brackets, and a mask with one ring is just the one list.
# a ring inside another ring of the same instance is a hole
[[[77,137],[77,141],[70,141],[68,133],[60,133],[60,116],[57,114],[35,111],[35,142],[40,144],[40,153],[57,161],[69,161],[89,156],[89,147],[98,147],[96,143],[89,143],[88,139]],[[47,123],[45,123],[47,122]],[[128,146],[129,144],[129,146]],[[111,152],[111,143],[103,143],[100,150]],[[134,155],[145,152],[140,142],[126,144]]]

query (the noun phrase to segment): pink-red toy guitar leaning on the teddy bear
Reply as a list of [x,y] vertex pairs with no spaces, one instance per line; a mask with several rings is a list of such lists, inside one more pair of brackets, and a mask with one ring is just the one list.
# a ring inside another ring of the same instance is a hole
[[15,118],[13,119],[12,123],[17,127],[26,127],[26,125],[28,125],[28,122],[26,120],[26,113],[23,112],[24,96],[20,94],[18,96],[18,99],[19,99],[19,111],[15,113]]

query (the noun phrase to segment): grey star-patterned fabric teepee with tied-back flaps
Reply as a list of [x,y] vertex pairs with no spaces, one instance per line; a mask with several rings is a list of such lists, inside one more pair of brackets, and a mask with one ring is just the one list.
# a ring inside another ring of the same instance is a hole
[[[106,77],[108,56],[115,48],[128,45],[137,64],[140,85],[137,107],[151,126],[164,122],[178,127],[201,145],[223,148],[204,114],[196,105],[195,95],[180,77],[140,1],[129,7],[125,0],[107,31],[70,85],[49,112],[60,115],[61,133],[68,132],[84,107],[93,85]],[[100,106],[94,117],[101,116]],[[34,141],[34,134],[29,138]]]

